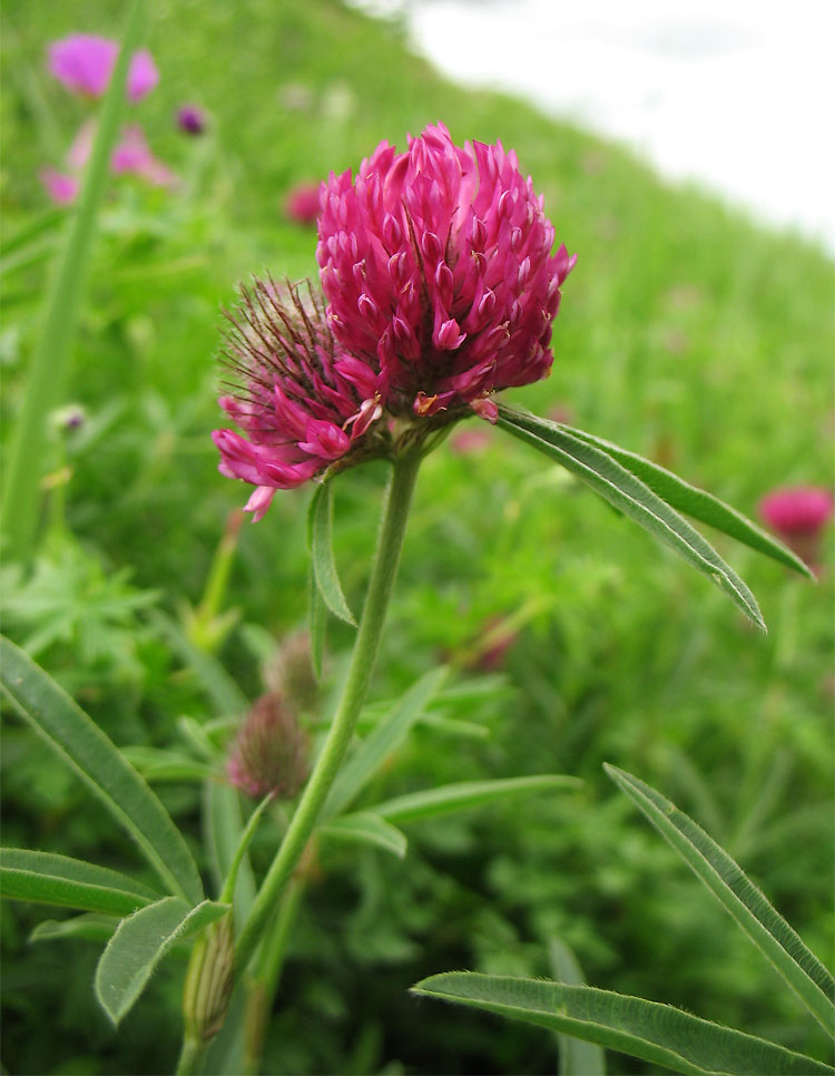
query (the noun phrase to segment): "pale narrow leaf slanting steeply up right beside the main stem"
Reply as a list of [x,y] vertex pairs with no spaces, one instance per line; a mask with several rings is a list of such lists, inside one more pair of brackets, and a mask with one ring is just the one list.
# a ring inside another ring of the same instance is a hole
[[413,684],[394,708],[358,745],[334,781],[323,818],[330,819],[356,799],[386,759],[397,750],[443,684],[449,669],[433,668]]

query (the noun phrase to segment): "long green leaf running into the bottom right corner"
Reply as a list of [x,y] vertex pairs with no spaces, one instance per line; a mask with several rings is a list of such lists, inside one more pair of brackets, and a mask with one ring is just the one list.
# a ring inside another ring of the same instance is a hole
[[412,992],[485,1009],[608,1046],[686,1076],[816,1076],[835,1069],[657,1001],[592,987],[451,971]]

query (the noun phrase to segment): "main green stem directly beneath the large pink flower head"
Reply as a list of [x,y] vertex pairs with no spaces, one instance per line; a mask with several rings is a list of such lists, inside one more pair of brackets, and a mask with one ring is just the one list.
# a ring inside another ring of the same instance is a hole
[[397,574],[400,551],[420,463],[421,456],[418,452],[401,456],[394,461],[369,580],[369,591],[365,596],[365,606],[356,633],[354,654],[342,700],[296,813],[293,815],[238,939],[235,966],[239,971],[243,971],[249,962],[255,947],[261,941],[267,919],[302,858],[351,743],[380,649],[383,623]]

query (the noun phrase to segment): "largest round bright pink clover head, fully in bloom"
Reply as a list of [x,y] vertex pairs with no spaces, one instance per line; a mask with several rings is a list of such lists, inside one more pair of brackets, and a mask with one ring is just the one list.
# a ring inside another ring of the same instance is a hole
[[546,376],[560,285],[543,199],[501,143],[455,146],[442,125],[397,154],[381,143],[357,176],[323,185],[317,260],[331,329],[376,364],[395,415],[495,421],[494,391]]

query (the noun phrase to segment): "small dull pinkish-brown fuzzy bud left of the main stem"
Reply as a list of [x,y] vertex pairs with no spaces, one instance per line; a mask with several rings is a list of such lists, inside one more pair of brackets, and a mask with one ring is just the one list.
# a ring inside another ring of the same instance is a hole
[[307,737],[294,710],[273,692],[258,698],[232,743],[226,775],[256,799],[291,799],[307,777]]

